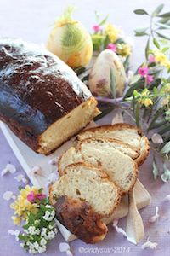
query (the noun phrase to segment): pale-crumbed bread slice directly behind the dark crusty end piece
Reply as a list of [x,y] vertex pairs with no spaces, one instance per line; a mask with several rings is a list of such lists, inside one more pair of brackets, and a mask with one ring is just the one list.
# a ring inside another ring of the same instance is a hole
[[51,186],[49,198],[53,205],[63,195],[87,201],[103,217],[110,216],[121,199],[120,190],[105,172],[85,163],[66,166],[63,176]]

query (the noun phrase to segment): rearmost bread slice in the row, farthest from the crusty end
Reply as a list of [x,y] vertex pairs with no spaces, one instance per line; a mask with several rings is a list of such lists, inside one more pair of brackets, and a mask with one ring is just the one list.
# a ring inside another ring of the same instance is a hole
[[150,143],[148,138],[142,135],[142,131],[136,126],[125,123],[89,128],[82,131],[77,138],[82,141],[88,137],[109,137],[127,143],[139,152],[136,159],[139,166],[143,164],[150,152]]

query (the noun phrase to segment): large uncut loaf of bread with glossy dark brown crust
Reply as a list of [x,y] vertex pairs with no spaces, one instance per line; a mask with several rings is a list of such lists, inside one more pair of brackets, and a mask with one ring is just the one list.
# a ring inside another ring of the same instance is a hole
[[20,39],[0,39],[0,119],[50,154],[99,114],[97,102],[58,57]]

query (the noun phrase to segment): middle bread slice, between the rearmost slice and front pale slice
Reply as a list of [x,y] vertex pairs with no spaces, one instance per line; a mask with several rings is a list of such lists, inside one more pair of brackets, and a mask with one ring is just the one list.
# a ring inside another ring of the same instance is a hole
[[[133,159],[123,152],[125,149],[126,145],[115,141],[111,142],[111,139],[85,139],[78,144],[78,148],[69,148],[61,156],[59,175],[63,175],[66,166],[82,160],[101,168],[108,174],[110,180],[122,190],[122,193],[127,193],[136,182],[138,168]],[[127,152],[130,154],[129,148],[127,148]]]

